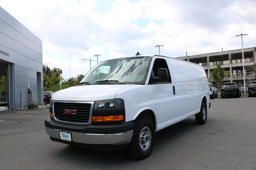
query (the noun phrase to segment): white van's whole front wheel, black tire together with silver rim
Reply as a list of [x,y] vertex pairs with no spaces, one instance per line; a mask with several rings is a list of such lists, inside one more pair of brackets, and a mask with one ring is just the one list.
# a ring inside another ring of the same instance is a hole
[[129,155],[135,159],[147,158],[153,150],[155,128],[148,117],[138,117],[135,120]]

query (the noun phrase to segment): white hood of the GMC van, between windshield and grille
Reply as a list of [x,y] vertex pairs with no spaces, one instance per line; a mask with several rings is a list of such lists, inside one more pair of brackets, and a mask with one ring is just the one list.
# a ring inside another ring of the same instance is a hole
[[74,86],[52,94],[52,100],[59,101],[99,101],[114,99],[116,93],[135,84],[104,84]]

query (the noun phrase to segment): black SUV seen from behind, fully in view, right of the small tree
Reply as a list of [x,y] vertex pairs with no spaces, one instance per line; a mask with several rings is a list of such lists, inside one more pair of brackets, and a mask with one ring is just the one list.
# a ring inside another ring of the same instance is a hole
[[221,87],[221,98],[224,98],[227,96],[236,96],[236,97],[242,96],[241,89],[238,87],[236,82],[223,83]]

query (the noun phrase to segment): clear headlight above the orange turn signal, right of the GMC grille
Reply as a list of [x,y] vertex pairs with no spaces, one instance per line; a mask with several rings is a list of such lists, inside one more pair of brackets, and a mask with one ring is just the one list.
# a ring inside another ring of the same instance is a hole
[[123,99],[96,101],[94,104],[94,109],[120,109],[120,108],[124,108]]

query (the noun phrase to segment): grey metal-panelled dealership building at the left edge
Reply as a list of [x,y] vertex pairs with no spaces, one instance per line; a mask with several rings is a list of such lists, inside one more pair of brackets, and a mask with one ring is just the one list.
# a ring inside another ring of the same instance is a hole
[[[0,95],[0,110],[24,107],[29,100],[43,104],[42,40],[2,7],[0,7]],[[20,96],[23,96],[22,104]]]

